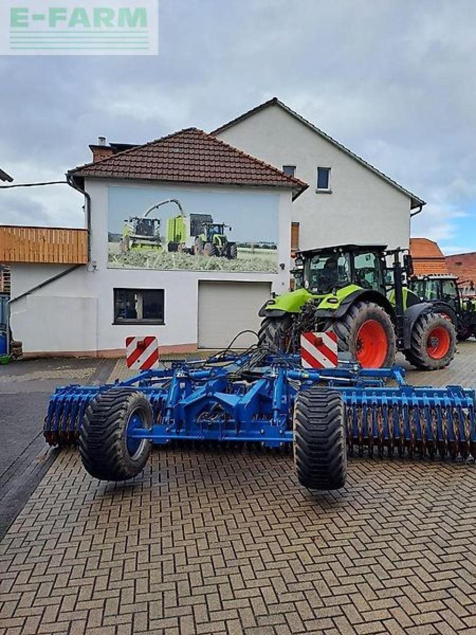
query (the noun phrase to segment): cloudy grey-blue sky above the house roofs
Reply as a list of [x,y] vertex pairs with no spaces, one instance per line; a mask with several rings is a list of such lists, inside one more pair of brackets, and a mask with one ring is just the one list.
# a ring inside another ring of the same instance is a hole
[[[475,0],[159,0],[159,22],[157,57],[0,57],[15,182],[62,179],[98,135],[213,130],[277,96],[428,201],[414,236],[476,250]],[[74,227],[82,203],[0,190],[0,222]]]

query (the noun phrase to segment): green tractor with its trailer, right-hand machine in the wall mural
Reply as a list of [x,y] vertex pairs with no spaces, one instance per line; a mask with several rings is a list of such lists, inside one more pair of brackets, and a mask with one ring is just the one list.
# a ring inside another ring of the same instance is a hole
[[192,255],[237,258],[236,243],[228,241],[225,230],[231,227],[213,222],[209,214],[179,215],[167,222],[168,251]]

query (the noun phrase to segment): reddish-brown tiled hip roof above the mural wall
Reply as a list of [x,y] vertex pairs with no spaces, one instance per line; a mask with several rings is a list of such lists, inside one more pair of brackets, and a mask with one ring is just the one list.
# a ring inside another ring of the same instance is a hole
[[308,185],[288,177],[197,128],[186,128],[70,170],[75,178],[140,179],[187,184],[246,185],[293,190],[293,199]]

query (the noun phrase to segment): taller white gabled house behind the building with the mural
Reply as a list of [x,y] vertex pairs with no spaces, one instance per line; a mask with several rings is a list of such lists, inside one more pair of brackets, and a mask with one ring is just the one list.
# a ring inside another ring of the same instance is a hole
[[293,248],[409,247],[425,201],[273,98],[211,133],[310,185],[292,209]]

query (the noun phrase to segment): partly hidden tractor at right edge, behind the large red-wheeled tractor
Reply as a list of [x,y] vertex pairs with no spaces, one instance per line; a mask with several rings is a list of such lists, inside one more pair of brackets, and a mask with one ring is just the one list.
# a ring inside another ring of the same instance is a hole
[[456,332],[458,340],[467,340],[476,336],[476,304],[465,300],[458,287],[458,277],[451,274],[432,274],[413,276],[409,287],[421,301],[444,302],[456,313]]

